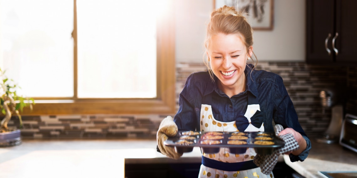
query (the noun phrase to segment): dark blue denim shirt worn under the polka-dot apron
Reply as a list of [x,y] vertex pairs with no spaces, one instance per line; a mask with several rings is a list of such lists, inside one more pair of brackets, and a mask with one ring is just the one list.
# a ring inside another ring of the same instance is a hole
[[248,105],[248,92],[254,95],[264,116],[264,130],[274,132],[273,122],[284,128],[290,127],[301,133],[307,147],[300,155],[290,154],[290,160],[303,161],[311,149],[311,142],[303,131],[293,103],[283,84],[282,78],[265,70],[251,70],[252,64],[245,68],[246,90],[229,98],[218,88],[218,78],[211,79],[208,71],[191,74],[179,96],[179,109],[174,116],[178,130],[200,130],[200,111],[204,98],[212,98],[213,117],[222,122],[235,121],[245,114]]

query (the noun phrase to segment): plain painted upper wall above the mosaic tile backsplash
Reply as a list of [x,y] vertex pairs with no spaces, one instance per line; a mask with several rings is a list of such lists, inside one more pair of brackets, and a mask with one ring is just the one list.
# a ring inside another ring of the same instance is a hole
[[[176,7],[176,60],[201,62],[206,23],[213,1],[180,0]],[[305,0],[274,0],[272,31],[254,31],[253,51],[260,61],[305,60]]]

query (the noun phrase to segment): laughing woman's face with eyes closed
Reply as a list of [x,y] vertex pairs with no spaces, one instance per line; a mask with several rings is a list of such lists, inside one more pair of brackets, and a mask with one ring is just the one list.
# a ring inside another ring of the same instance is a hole
[[[223,88],[235,89],[245,84],[244,69],[252,47],[247,54],[247,48],[238,34],[212,35],[208,41],[207,57],[213,73],[221,82]],[[244,85],[245,86],[245,85]]]

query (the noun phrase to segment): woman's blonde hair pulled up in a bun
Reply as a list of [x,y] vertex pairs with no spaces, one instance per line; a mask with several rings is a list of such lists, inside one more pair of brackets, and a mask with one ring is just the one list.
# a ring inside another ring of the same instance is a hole
[[[248,23],[246,17],[243,15],[243,12],[236,11],[235,7],[223,6],[219,9],[215,9],[211,13],[210,21],[208,22],[206,29],[206,52],[209,46],[208,42],[211,36],[217,33],[223,33],[226,35],[238,34],[247,48],[247,53],[249,53],[250,47],[253,46],[253,29]],[[258,60],[253,51],[252,53],[256,58],[256,66]],[[203,60],[203,62],[207,66],[211,78],[213,79],[213,73],[210,70],[208,61]],[[253,67],[252,70],[254,68],[255,67]]]

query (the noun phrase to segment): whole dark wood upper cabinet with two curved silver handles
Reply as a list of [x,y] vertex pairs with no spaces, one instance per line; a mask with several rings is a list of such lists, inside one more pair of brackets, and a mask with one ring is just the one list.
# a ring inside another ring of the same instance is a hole
[[357,0],[306,1],[306,62],[357,65]]

